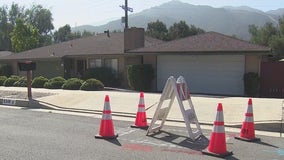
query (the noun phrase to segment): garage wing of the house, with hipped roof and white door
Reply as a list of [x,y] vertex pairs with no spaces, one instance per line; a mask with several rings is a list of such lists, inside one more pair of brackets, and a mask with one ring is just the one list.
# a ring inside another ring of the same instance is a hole
[[207,32],[128,54],[143,55],[144,63],[155,66],[158,91],[162,91],[169,76],[182,75],[192,93],[242,96],[244,74],[259,74],[261,61],[271,54],[271,49]]

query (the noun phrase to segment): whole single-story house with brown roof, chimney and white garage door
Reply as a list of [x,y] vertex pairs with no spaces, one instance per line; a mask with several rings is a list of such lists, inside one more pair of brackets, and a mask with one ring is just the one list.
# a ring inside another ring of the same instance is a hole
[[144,29],[131,28],[12,54],[1,57],[0,62],[8,62],[19,73],[18,61],[35,61],[34,75],[48,78],[69,78],[88,68],[111,67],[121,75],[125,88],[127,65],[151,64],[155,91],[162,91],[169,76],[182,75],[192,93],[244,95],[244,73],[260,73],[261,61],[270,54],[268,47],[216,32],[163,42],[145,36]]

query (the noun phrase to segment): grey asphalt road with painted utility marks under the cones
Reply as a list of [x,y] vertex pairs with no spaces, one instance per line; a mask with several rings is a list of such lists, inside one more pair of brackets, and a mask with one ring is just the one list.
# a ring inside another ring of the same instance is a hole
[[[203,155],[210,130],[196,142],[187,138],[185,128],[165,126],[146,136],[145,130],[130,128],[131,122],[114,120],[115,140],[95,139],[100,118],[38,112],[31,109],[0,107],[0,159],[4,160],[142,160],[218,159]],[[284,138],[260,136],[261,142],[234,139],[226,133],[226,159],[284,159]],[[206,138],[207,137],[207,138]]]

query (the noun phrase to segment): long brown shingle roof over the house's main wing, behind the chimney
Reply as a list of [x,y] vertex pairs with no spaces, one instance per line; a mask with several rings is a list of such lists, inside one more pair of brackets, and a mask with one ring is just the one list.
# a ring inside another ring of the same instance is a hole
[[[160,40],[145,37],[145,46],[159,43],[161,43]],[[124,33],[110,33],[110,37],[106,34],[98,34],[12,54],[0,59],[45,59],[95,54],[124,54]]]

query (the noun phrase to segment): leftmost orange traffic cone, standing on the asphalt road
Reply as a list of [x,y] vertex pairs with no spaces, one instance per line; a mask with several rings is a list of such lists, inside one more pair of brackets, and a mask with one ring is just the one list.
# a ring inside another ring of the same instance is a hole
[[111,109],[109,104],[109,96],[105,96],[105,104],[103,110],[103,116],[101,119],[100,125],[100,133],[95,136],[95,138],[103,138],[103,139],[113,139],[118,135],[114,135],[114,127],[111,118]]

